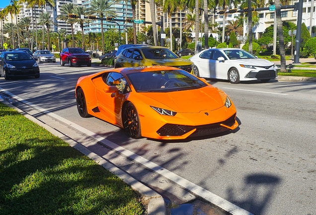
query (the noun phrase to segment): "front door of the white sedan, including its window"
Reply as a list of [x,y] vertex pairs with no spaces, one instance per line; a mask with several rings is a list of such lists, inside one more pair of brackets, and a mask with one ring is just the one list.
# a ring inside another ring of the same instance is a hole
[[[224,57],[224,61],[218,60]],[[210,60],[210,78],[228,79],[227,77],[227,57],[221,50],[214,50]]]

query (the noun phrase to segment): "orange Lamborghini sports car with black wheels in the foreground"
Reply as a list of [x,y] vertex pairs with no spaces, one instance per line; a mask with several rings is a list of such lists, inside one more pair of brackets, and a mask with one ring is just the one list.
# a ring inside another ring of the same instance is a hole
[[174,67],[118,68],[83,76],[76,99],[80,116],[103,119],[132,138],[185,139],[238,127],[226,93]]

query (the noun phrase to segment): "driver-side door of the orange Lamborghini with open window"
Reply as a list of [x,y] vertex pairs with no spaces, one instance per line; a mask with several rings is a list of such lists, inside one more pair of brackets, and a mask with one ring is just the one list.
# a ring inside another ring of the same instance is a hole
[[112,93],[104,92],[103,88],[96,88],[96,99],[99,104],[101,114],[107,121],[121,125],[121,107],[124,101],[124,94],[130,91],[124,76],[117,72],[108,72],[102,75],[105,85],[116,86],[119,89],[117,97],[112,97]]

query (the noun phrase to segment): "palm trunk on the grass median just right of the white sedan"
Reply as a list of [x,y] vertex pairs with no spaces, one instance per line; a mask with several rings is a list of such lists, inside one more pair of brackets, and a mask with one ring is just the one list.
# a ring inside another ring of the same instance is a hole
[[281,2],[280,0],[275,0],[275,14],[277,17],[277,31],[279,36],[279,46],[280,46],[280,57],[281,57],[281,69],[280,72],[286,71],[286,61],[285,61],[285,45],[284,45],[284,34],[283,25],[281,19]]

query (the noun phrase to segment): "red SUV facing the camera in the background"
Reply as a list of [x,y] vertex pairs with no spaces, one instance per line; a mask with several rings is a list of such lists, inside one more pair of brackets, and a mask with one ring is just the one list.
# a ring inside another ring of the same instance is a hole
[[70,67],[74,65],[91,66],[91,56],[86,54],[82,48],[64,48],[60,53],[60,65],[64,66],[68,63]]

